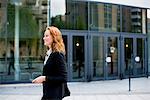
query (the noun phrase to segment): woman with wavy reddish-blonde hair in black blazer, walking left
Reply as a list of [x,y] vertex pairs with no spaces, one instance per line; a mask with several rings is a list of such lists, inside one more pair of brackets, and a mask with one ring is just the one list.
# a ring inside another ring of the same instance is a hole
[[65,63],[65,46],[60,30],[54,26],[47,27],[44,33],[44,45],[48,48],[45,56],[43,75],[33,83],[43,83],[41,100],[62,100],[70,95],[67,87]]

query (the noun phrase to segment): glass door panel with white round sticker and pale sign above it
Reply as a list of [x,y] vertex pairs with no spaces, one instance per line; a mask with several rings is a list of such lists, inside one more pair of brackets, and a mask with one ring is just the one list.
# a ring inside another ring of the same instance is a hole
[[118,67],[118,53],[119,53],[119,42],[118,37],[108,36],[105,37],[105,72],[106,79],[116,78],[119,76],[119,67]]

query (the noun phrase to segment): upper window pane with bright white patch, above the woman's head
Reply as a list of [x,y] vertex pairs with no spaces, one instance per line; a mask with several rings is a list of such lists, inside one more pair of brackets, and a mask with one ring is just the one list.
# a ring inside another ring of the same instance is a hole
[[[55,1],[55,0],[52,0]],[[59,1],[57,3],[57,1]],[[51,24],[61,29],[87,30],[87,3],[57,0],[52,6]],[[58,13],[58,11],[61,11]],[[65,11],[65,12],[64,12]]]

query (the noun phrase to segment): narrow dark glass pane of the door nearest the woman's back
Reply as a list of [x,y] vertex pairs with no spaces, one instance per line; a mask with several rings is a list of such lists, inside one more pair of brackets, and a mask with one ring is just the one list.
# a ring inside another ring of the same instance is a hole
[[84,78],[84,37],[73,37],[73,78]]

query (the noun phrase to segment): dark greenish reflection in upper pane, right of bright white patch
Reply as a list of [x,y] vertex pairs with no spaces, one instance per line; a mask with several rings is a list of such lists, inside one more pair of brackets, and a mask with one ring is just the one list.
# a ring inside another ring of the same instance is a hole
[[86,2],[66,1],[66,24],[67,29],[87,30],[88,12]]

